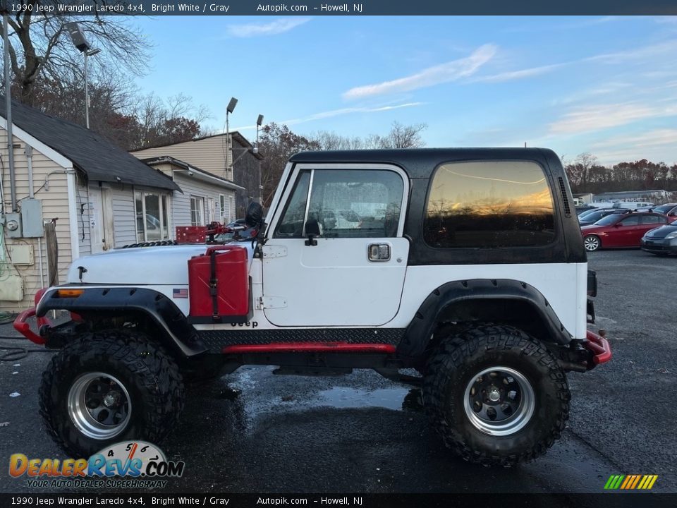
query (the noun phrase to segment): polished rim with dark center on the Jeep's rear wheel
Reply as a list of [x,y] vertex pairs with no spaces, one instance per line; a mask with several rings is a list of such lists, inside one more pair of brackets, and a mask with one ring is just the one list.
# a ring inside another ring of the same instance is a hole
[[463,409],[470,423],[485,434],[511,435],[531,420],[536,405],[527,378],[508,367],[477,373],[465,388]]

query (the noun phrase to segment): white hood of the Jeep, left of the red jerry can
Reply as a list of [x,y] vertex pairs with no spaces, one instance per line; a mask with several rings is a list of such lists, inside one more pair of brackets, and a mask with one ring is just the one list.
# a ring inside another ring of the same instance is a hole
[[[75,260],[66,282],[133,286],[188,284],[188,260],[206,251],[204,244],[109,250]],[[251,260],[251,255],[249,258]],[[80,267],[83,267],[82,280]]]

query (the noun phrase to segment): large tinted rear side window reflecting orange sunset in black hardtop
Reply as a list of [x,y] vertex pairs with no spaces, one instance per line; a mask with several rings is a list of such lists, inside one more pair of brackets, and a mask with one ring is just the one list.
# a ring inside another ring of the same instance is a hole
[[554,241],[553,207],[535,162],[442,164],[430,182],[423,238],[435,248],[543,246]]

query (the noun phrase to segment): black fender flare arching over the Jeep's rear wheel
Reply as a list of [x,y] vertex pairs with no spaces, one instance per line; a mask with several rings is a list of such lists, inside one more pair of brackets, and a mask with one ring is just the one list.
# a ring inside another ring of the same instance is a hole
[[513,279],[471,279],[442,284],[425,298],[398,345],[398,356],[410,360],[421,358],[437,325],[444,320],[445,310],[456,304],[481,304],[482,301],[526,304],[547,334],[543,340],[560,346],[572,340],[547,299],[534,286]]

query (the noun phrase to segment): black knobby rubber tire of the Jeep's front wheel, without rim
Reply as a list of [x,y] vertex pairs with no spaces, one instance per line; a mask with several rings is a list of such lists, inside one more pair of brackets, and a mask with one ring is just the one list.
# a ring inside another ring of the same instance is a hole
[[[129,420],[110,439],[82,433],[68,412],[68,393],[80,375],[105,373],[120,380],[131,401]],[[67,344],[42,374],[40,414],[56,444],[87,458],[109,444],[145,440],[159,444],[183,410],[183,378],[169,353],[138,332],[107,330]]]

